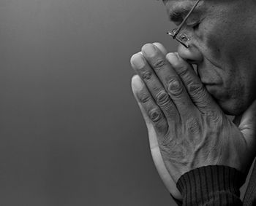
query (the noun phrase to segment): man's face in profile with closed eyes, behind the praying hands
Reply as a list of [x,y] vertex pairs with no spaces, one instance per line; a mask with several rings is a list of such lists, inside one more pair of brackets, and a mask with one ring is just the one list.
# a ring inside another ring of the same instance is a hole
[[[164,3],[179,25],[195,0]],[[225,113],[241,114],[256,97],[256,1],[201,0],[181,33],[189,36],[189,48],[180,45],[178,54],[197,66]]]

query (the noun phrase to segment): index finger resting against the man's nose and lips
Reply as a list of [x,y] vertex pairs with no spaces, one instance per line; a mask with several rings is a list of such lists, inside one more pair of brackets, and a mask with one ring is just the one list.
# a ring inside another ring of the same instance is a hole
[[220,111],[219,106],[208,93],[192,66],[183,60],[177,53],[168,53],[166,59],[176,70],[184,82],[192,101],[203,114],[215,114]]

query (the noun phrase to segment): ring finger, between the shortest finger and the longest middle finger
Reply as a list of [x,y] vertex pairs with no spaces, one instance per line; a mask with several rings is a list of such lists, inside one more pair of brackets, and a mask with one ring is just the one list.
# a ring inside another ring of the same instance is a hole
[[157,105],[162,109],[167,119],[179,119],[178,111],[173,101],[159,82],[157,75],[152,70],[151,66],[148,65],[143,55],[140,53],[135,54],[131,58],[132,68],[135,69],[136,73],[143,79],[148,91],[154,98]]

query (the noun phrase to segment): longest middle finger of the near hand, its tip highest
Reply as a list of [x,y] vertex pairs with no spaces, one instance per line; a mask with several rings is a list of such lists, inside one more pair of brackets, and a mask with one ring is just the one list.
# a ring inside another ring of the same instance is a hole
[[168,63],[165,55],[154,44],[144,45],[142,52],[175,103],[181,119],[187,119],[187,116],[191,115],[193,111],[197,111],[197,108],[189,98],[176,71]]

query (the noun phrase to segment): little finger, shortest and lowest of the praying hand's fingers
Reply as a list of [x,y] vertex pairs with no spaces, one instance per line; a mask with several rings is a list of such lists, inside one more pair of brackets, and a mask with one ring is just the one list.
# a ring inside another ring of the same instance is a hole
[[168,130],[165,115],[162,114],[161,109],[154,102],[154,99],[138,75],[132,77],[132,92],[140,106],[148,131],[154,129],[157,135],[164,136]]

